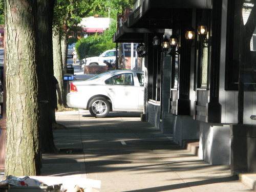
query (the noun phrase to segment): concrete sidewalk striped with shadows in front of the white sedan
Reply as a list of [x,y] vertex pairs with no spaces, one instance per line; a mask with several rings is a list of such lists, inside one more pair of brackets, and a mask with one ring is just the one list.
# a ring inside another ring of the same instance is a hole
[[100,191],[250,191],[229,165],[210,165],[175,144],[138,113],[93,118],[57,112],[60,154],[43,154],[41,175],[101,181]]

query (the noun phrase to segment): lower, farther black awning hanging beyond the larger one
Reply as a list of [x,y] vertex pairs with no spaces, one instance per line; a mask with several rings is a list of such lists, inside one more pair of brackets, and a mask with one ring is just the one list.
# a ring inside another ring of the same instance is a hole
[[127,28],[124,23],[114,34],[113,42],[144,42],[144,33],[164,33],[163,29]]

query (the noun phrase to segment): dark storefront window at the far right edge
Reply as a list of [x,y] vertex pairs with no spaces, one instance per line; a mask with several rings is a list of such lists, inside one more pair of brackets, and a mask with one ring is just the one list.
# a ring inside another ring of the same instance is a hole
[[239,73],[244,89],[255,90],[256,7],[254,5],[254,0],[229,0],[228,2],[226,90],[238,90]]

